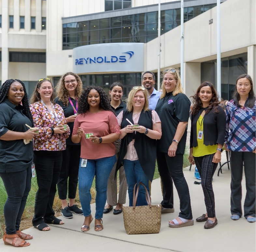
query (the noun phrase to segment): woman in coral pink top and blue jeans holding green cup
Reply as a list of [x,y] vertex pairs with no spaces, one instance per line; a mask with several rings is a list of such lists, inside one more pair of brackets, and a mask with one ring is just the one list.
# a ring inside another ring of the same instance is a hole
[[[89,136],[89,133],[91,135]],[[101,87],[89,86],[78,101],[78,116],[75,120],[72,141],[81,143],[79,167],[79,198],[85,220],[81,230],[90,229],[91,187],[95,176],[96,213],[95,231],[103,230],[102,217],[107,200],[107,182],[116,162],[114,142],[120,137],[118,121],[107,94]]]

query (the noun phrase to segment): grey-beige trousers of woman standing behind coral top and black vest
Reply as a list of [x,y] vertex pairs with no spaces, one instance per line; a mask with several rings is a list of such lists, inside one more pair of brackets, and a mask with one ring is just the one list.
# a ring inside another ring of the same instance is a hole
[[[115,141],[117,159],[120,150],[120,144],[121,140]],[[114,164],[107,182],[107,204],[110,206],[116,206],[117,202],[120,204],[125,204],[126,202],[128,185],[123,166],[119,169],[119,196],[117,201],[117,178],[115,180],[116,166],[117,162]]]

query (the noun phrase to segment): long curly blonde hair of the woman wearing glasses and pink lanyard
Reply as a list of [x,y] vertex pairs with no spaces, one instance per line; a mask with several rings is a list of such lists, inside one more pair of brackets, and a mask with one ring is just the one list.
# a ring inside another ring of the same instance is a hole
[[65,88],[65,83],[64,83],[64,79],[67,75],[74,76],[77,81],[75,94],[78,97],[78,99],[80,98],[83,91],[83,82],[81,81],[80,77],[76,73],[67,72],[63,74],[60,80],[58,81],[55,89],[56,89],[56,96],[58,97],[59,101],[63,102],[64,106],[68,106],[68,91]]

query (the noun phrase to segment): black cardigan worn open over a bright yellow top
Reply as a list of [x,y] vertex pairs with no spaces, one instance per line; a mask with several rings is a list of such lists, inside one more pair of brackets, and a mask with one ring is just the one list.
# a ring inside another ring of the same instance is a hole
[[[202,114],[203,110],[206,108],[201,108],[196,115],[191,117],[191,133],[190,133],[190,148],[196,147],[197,143],[197,130],[196,124],[199,116]],[[225,141],[225,131],[226,131],[226,113],[222,107],[217,108],[219,113],[214,113],[212,110],[208,114],[205,114],[203,120],[203,131],[204,131],[204,145],[223,145]]]

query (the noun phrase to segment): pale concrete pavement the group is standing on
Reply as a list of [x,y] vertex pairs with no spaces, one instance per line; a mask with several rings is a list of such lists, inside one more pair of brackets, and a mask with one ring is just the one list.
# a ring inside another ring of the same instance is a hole
[[[226,159],[222,153],[222,162]],[[218,170],[217,170],[218,171]],[[194,225],[183,228],[170,228],[168,220],[175,219],[179,213],[179,198],[174,187],[175,213],[162,214],[160,233],[134,234],[125,232],[122,214],[113,215],[113,211],[103,216],[104,229],[94,231],[94,221],[91,229],[82,233],[84,217],[75,215],[73,219],[62,219],[64,225],[50,225],[51,230],[41,232],[35,228],[25,230],[33,235],[30,246],[22,249],[29,251],[255,251],[255,223],[249,223],[244,217],[238,221],[230,219],[230,179],[227,165],[222,168],[222,174],[214,175],[213,188],[215,193],[216,217],[218,225],[215,228],[204,229],[205,222],[195,219],[206,212],[204,195],[201,185],[194,184],[194,166],[184,170],[184,175],[190,189]],[[245,198],[245,180],[243,186],[243,202]],[[162,193],[160,179],[153,180],[151,188],[152,205],[160,204]],[[128,206],[128,195],[126,199]],[[95,204],[91,205],[92,216],[95,214]],[[19,248],[4,245],[0,241],[0,251],[17,251]]]

